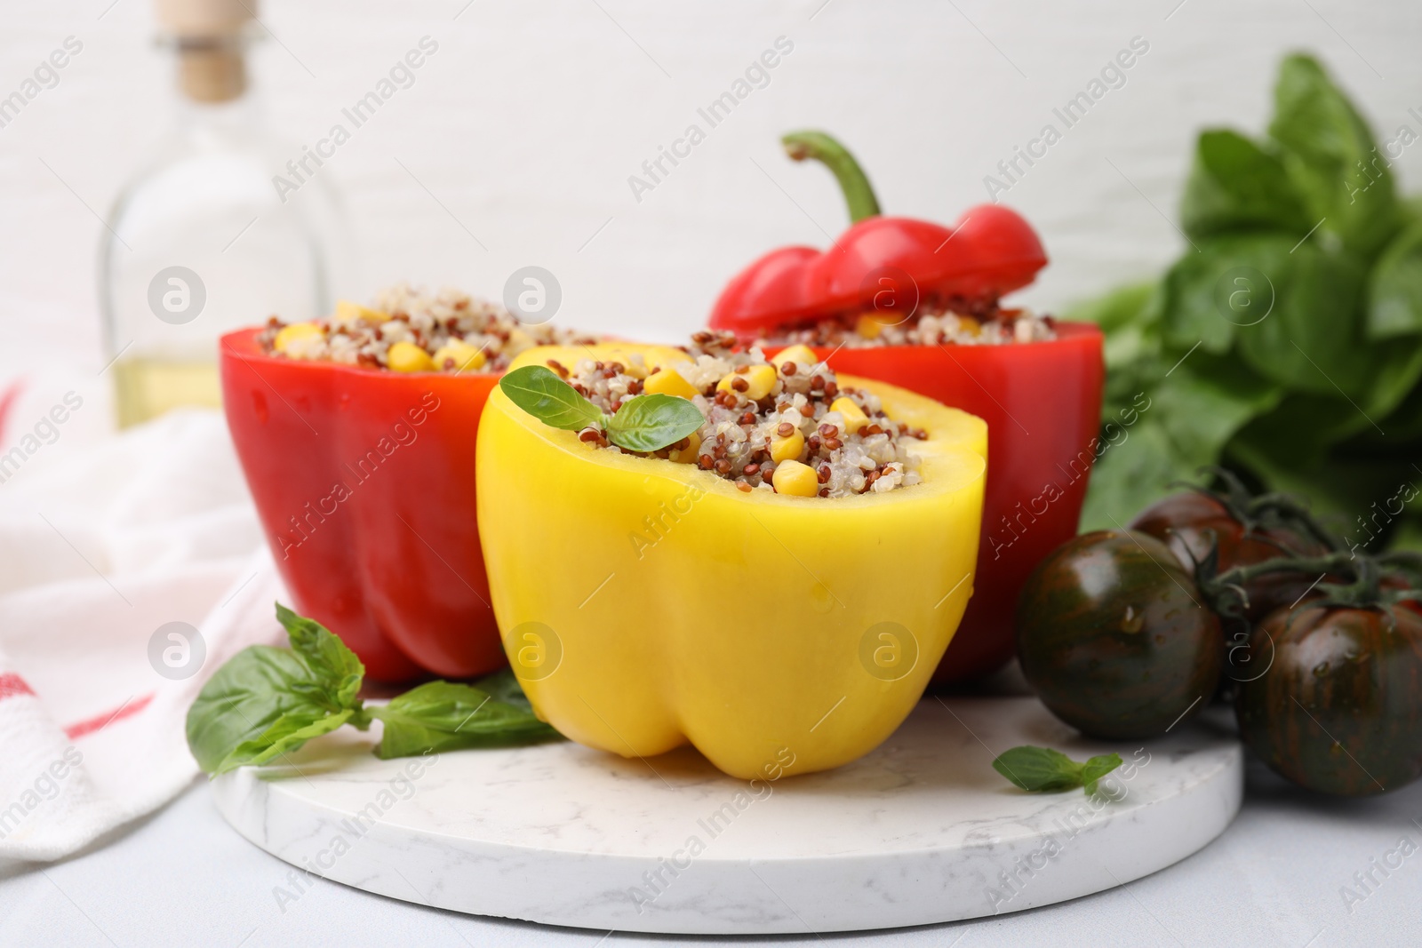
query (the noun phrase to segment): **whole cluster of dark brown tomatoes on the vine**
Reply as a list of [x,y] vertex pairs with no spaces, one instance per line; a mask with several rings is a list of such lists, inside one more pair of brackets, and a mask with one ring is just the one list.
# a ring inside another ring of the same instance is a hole
[[1221,694],[1294,783],[1367,796],[1418,779],[1422,557],[1349,550],[1297,500],[1219,473],[1223,492],[1172,495],[1037,567],[1022,672],[1092,736],[1156,736]]

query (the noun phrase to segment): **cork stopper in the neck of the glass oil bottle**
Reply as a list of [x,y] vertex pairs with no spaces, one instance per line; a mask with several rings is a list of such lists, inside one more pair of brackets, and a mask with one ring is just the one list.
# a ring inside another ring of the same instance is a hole
[[178,48],[178,85],[195,102],[226,102],[247,90],[243,30],[257,0],[154,0]]

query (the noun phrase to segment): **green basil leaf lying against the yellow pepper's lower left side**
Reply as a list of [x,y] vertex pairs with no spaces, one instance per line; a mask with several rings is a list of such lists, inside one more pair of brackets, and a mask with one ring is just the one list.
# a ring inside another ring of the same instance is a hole
[[499,701],[472,685],[431,681],[370,713],[384,722],[375,756],[408,758],[427,752],[532,743],[557,738],[532,708]]

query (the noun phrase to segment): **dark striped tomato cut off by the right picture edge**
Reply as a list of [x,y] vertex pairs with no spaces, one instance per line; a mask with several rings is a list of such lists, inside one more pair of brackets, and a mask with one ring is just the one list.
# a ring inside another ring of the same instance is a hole
[[1294,783],[1335,796],[1422,776],[1422,615],[1391,608],[1278,610],[1250,638],[1268,671],[1240,682],[1244,743]]

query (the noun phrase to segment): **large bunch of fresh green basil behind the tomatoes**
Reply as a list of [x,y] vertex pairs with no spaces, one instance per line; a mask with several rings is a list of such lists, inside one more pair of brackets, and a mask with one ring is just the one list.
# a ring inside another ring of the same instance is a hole
[[1313,497],[1357,542],[1422,546],[1422,205],[1389,168],[1416,139],[1404,126],[1379,149],[1301,54],[1267,138],[1200,135],[1180,202],[1192,246],[1159,281],[1069,314],[1105,330],[1103,424],[1130,419],[1136,442],[1103,431],[1119,446],[1101,452],[1085,529],[1223,463]]

